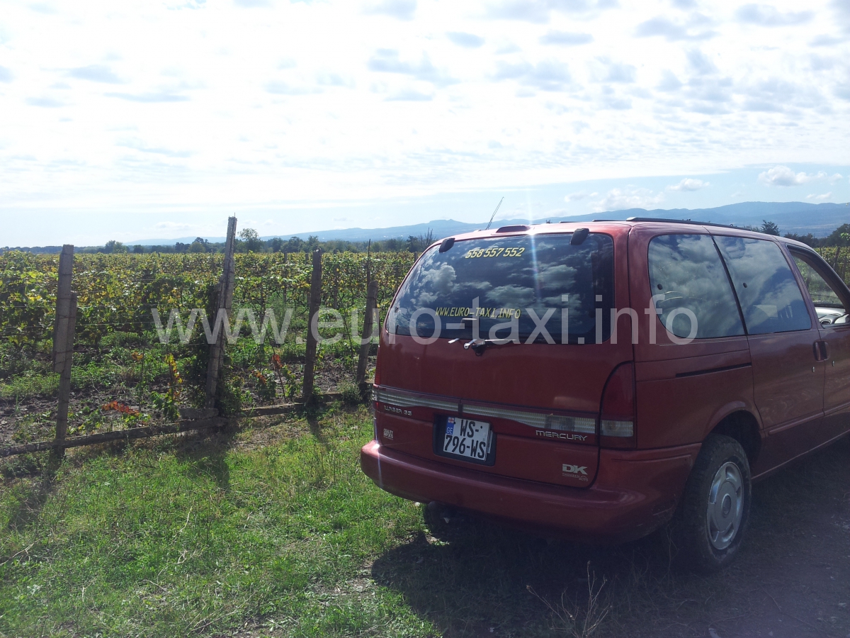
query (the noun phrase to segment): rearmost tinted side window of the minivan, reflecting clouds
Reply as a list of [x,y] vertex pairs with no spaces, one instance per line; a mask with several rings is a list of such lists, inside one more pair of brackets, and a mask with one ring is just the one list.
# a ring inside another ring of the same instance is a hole
[[690,310],[697,320],[696,339],[744,334],[738,305],[723,262],[708,235],[662,235],[649,242],[649,282],[653,294],[664,294],[655,307],[661,323],[673,314],[672,333],[688,337]]

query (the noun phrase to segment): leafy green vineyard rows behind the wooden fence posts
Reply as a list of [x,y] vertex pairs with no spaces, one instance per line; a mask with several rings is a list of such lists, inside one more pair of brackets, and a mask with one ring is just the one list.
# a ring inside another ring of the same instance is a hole
[[[320,390],[354,385],[366,288],[377,281],[385,305],[410,270],[413,253],[326,253],[321,305],[342,317],[316,361]],[[200,406],[209,345],[201,325],[178,339],[193,310],[214,324],[224,255],[86,254],[73,258],[77,321],[68,434],[91,434],[176,419]],[[307,253],[235,255],[233,315],[262,322],[287,316],[283,338],[261,339],[250,322],[227,346],[220,402],[225,410],[275,404],[300,393],[312,275]],[[50,366],[59,281],[58,254],[0,254],[0,445],[43,439],[54,419],[59,374]],[[176,327],[168,331],[176,311]],[[168,339],[163,339],[167,334]],[[276,336],[280,336],[278,333]]]

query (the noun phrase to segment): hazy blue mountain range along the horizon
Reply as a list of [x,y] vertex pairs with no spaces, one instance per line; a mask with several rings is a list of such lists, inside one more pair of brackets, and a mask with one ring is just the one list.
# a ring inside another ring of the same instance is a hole
[[[814,236],[827,236],[842,224],[850,223],[850,207],[847,204],[810,204],[805,202],[740,202],[717,208],[629,208],[609,213],[592,213],[586,215],[571,215],[570,217],[548,217],[536,219],[536,223],[544,221],[591,221],[592,219],[628,219],[629,217],[657,217],[660,219],[694,219],[714,224],[736,226],[760,226],[767,219],[779,225],[783,234],[786,232]],[[498,219],[494,227],[528,224],[528,219]],[[419,236],[433,231],[435,239],[456,235],[462,232],[475,231],[484,228],[486,221],[468,223],[454,219],[434,219],[427,224],[405,226],[390,226],[388,228],[346,228],[337,231],[312,231],[292,233],[292,235],[263,236],[264,240],[280,236],[289,239],[291,236],[307,239],[317,236],[320,242],[342,240],[348,242],[373,242],[385,239],[406,239],[408,236]],[[210,242],[224,242],[224,237],[204,237]],[[143,239],[137,242],[127,242],[127,246],[140,244],[142,246],[173,246],[176,242],[191,243],[195,237],[180,237],[179,239]]]

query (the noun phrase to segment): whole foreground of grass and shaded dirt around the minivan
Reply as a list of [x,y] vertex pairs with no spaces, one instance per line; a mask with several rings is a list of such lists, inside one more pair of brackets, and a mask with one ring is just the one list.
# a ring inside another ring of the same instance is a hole
[[370,437],[365,407],[337,405],[7,478],[0,635],[850,631],[847,439],[754,487],[739,561],[700,576],[672,567],[663,535],[587,547],[423,518],[360,473]]

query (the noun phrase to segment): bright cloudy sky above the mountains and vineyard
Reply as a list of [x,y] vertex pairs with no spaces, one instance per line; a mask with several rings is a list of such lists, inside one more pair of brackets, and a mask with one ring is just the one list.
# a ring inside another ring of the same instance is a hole
[[0,246],[850,200],[850,2],[2,0]]

